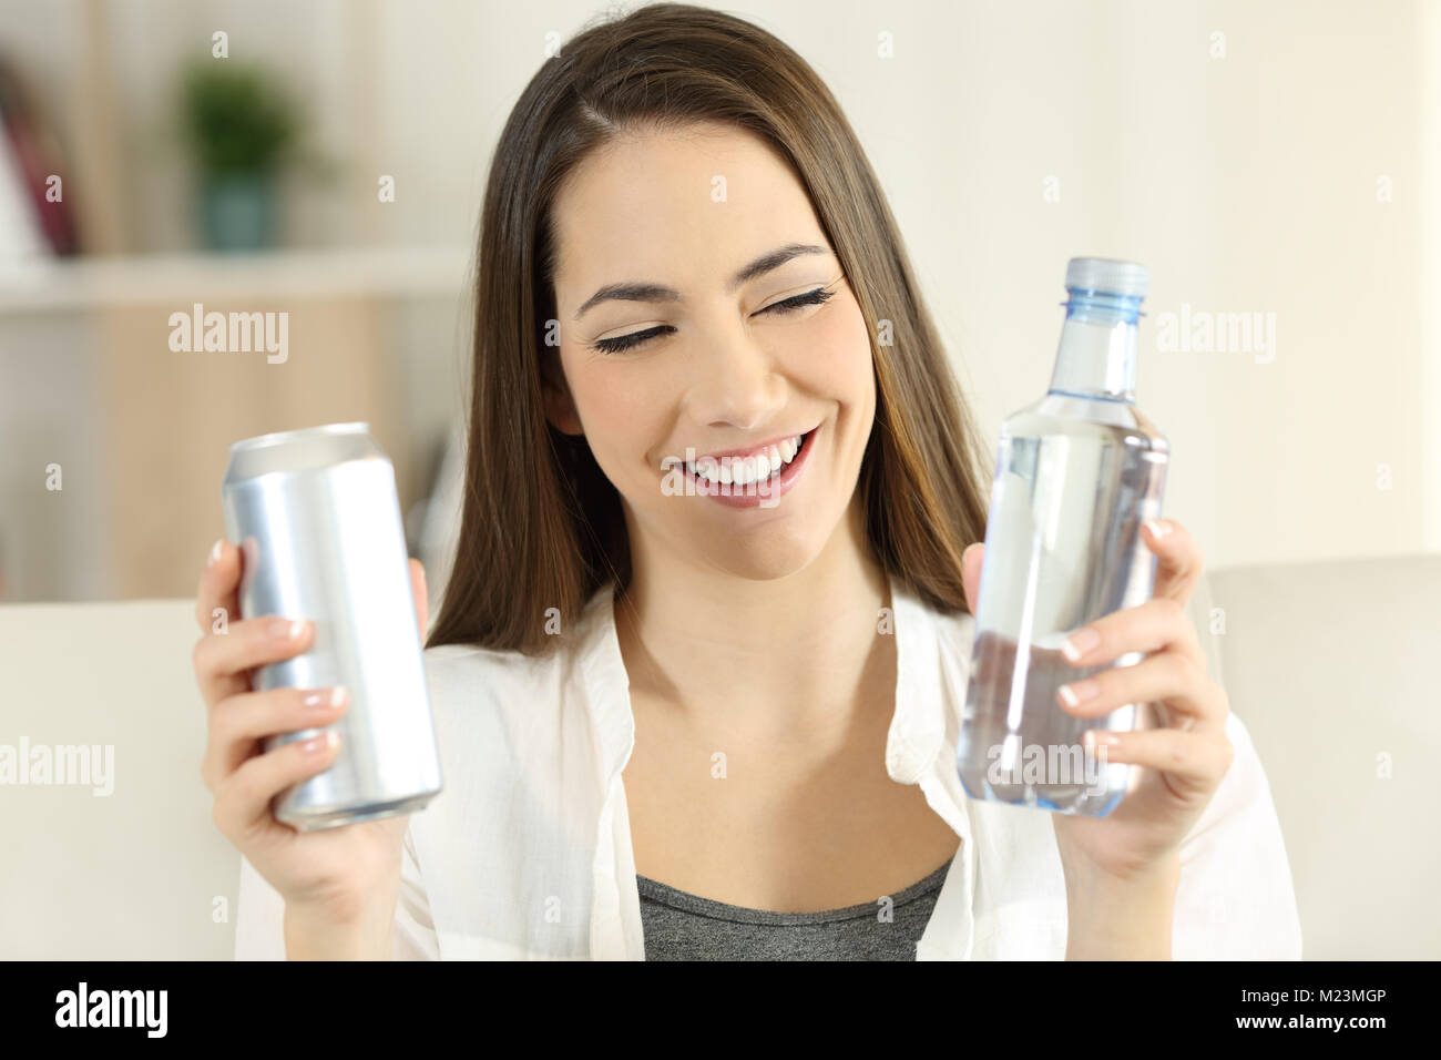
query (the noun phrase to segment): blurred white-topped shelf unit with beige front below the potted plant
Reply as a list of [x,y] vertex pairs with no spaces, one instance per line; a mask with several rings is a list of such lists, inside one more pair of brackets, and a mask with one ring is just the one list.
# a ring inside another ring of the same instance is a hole
[[[229,446],[268,431],[367,421],[402,506],[428,498],[470,378],[471,254],[68,260],[0,283],[0,600],[193,593]],[[284,356],[173,349],[197,304],[284,313]]]

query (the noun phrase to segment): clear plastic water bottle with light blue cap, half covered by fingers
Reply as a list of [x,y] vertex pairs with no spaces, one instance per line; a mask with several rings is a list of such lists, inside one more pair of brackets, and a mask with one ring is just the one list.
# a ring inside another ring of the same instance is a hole
[[1131,769],[1087,754],[1087,728],[1147,727],[1138,704],[1078,718],[1056,689],[1110,666],[1072,666],[1065,636],[1146,603],[1156,557],[1141,522],[1161,512],[1164,436],[1136,408],[1136,327],[1150,273],[1072,258],[1050,389],[1001,425],[976,643],[957,747],[965,793],[1058,813],[1104,816]]

